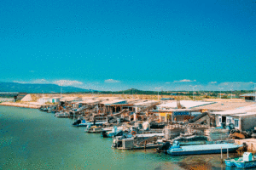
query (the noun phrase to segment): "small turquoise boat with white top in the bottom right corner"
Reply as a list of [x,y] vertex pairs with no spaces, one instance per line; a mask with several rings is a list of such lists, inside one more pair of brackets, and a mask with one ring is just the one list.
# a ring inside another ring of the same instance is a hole
[[225,164],[228,167],[251,168],[256,167],[256,156],[251,152],[245,152],[242,157],[225,159]]

